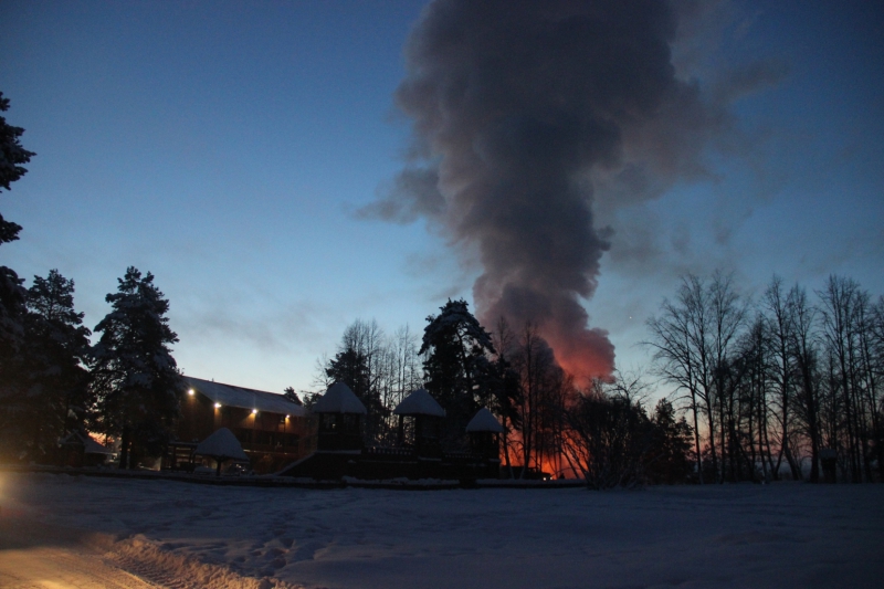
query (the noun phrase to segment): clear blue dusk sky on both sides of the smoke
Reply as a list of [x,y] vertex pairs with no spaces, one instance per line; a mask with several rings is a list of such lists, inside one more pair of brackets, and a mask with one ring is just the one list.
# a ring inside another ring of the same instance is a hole
[[[610,249],[580,304],[621,369],[680,275],[777,273],[884,294],[884,9],[709,2],[680,23],[676,76],[722,105],[702,173],[592,203]],[[7,120],[35,151],[0,193],[23,225],[0,249],[30,284],[57,269],[94,327],[134,265],[170,301],[193,377],[313,389],[345,327],[420,334],[449,297],[475,306],[470,244],[429,217],[364,214],[408,167],[397,106],[419,1],[0,3]],[[528,228],[526,231],[530,231]]]

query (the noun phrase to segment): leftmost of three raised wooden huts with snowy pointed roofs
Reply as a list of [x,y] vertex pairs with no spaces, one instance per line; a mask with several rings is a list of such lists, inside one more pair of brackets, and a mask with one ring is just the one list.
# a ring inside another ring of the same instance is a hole
[[347,385],[332,385],[313,412],[319,416],[319,451],[361,451],[361,419],[368,411]]

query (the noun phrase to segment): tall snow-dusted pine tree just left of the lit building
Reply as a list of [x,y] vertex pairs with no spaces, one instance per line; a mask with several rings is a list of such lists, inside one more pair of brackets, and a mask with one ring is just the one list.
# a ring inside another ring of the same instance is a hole
[[[92,367],[103,429],[119,435],[119,466],[135,467],[140,455],[157,455],[180,414],[185,383],[171,356],[178,336],[169,328],[169,302],[134,266],[105,298],[113,311],[95,326]],[[129,454],[133,453],[134,456]]]

